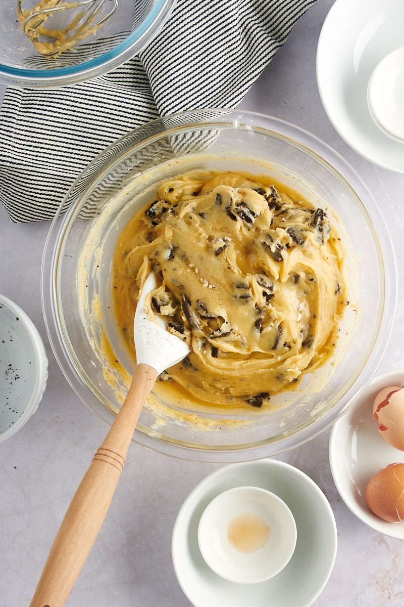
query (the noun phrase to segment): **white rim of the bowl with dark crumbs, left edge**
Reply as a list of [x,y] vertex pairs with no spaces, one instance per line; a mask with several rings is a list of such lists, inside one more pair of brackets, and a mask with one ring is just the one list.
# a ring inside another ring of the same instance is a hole
[[[22,415],[15,421],[13,426],[0,433],[0,443],[18,432],[18,430],[20,430],[28,421],[30,416],[35,413],[36,409],[38,409],[39,402],[41,402],[42,396],[44,395],[48,379],[48,358],[44,342],[42,341],[38,329],[22,308],[15,304],[11,299],[8,299],[8,297],[0,294],[0,319],[2,321],[3,319],[8,321],[8,317],[1,313],[2,308],[7,308],[9,312],[18,317],[18,322],[21,323],[25,328],[25,331],[27,331],[35,353],[36,375],[35,382],[31,387],[30,399],[24,404]],[[21,325],[16,326],[19,327]]]

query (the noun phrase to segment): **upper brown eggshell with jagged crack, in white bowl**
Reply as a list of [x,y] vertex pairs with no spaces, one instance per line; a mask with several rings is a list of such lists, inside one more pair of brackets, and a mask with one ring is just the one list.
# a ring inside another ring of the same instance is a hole
[[373,417],[385,441],[404,451],[404,388],[392,385],[380,390],[374,399]]

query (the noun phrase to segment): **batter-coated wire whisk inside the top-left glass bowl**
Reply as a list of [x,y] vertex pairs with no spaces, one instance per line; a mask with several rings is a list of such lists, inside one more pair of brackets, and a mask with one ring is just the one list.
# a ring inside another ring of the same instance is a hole
[[[22,31],[41,55],[51,58],[73,49],[75,44],[95,34],[118,8],[118,0],[39,0],[35,6],[25,10],[22,2],[17,0],[17,16]],[[109,10],[102,15],[105,4],[108,4]],[[48,19],[55,18],[56,21],[56,16],[64,12],[71,15],[67,25],[55,22],[54,29],[48,27]]]

